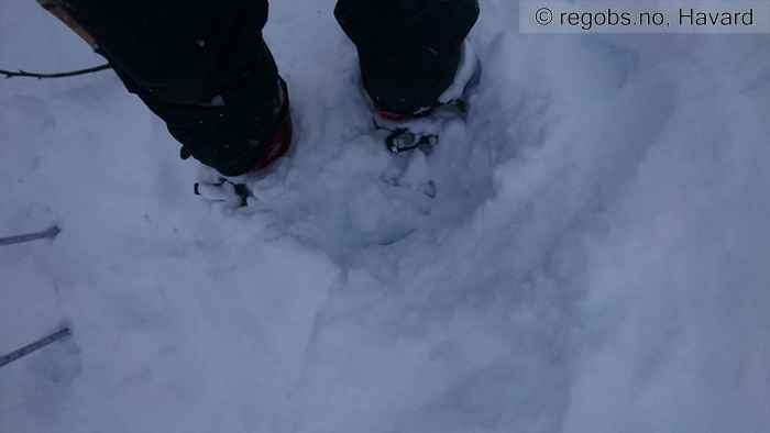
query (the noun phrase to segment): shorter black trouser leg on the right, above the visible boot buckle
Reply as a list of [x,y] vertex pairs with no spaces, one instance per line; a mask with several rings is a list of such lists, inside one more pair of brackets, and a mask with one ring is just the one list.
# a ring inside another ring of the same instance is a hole
[[376,108],[411,114],[451,85],[477,0],[339,0],[334,15],[359,51]]

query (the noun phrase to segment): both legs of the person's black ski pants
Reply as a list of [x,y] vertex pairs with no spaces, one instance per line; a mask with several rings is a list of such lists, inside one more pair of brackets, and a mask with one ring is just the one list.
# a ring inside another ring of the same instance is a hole
[[[266,0],[37,1],[109,59],[129,91],[166,122],[184,156],[227,176],[264,156],[282,100],[262,38]],[[358,48],[376,108],[410,114],[436,104],[451,84],[479,4],[339,0],[334,15]]]

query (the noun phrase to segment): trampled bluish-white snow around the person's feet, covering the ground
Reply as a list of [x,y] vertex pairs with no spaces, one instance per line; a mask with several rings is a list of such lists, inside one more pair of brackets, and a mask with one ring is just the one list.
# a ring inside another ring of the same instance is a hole
[[[111,73],[0,80],[0,235],[64,229],[0,249],[0,352],[75,331],[0,370],[0,432],[767,431],[763,36],[484,1],[474,115],[393,157],[332,7],[272,4],[297,143],[249,211]],[[96,62],[0,0],[0,65]]]

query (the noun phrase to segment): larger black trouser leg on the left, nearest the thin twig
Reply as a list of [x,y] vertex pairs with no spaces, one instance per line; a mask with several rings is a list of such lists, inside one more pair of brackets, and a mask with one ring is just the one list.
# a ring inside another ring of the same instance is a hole
[[221,0],[213,7],[180,0],[38,1],[90,36],[84,38],[184,144],[183,154],[235,176],[275,151],[272,141],[287,107],[261,34],[266,0]]

